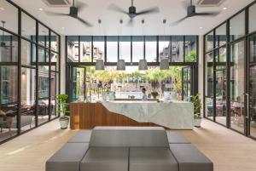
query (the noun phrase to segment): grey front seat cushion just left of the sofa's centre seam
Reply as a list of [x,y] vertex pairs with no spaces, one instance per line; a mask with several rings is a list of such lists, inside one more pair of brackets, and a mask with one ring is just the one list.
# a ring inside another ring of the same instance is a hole
[[128,171],[128,158],[128,147],[90,147],[80,171]]

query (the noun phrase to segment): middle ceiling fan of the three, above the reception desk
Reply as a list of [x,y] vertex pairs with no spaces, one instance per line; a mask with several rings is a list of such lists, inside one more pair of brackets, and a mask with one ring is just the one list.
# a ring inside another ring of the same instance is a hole
[[158,7],[153,7],[150,9],[144,9],[143,11],[137,12],[136,11],[136,7],[133,5],[134,0],[131,0],[131,7],[129,7],[128,12],[125,9],[121,9],[118,6],[116,6],[115,4],[110,4],[110,6],[108,7],[108,9],[111,9],[113,11],[117,11],[119,13],[122,14],[128,14],[128,16],[130,17],[130,21],[128,23],[128,25],[131,25],[133,22],[133,19],[137,16],[137,15],[142,15],[142,14],[152,14],[152,13],[159,13],[160,9]]

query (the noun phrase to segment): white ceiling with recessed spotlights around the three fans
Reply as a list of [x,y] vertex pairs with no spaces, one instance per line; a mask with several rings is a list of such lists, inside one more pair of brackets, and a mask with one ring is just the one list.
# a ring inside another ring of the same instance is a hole
[[[2,0],[1,0],[2,1]],[[131,0],[80,0],[88,4],[88,7],[79,13],[79,16],[84,20],[88,20],[94,27],[86,27],[78,20],[66,16],[51,17],[38,9],[60,12],[67,14],[68,8],[49,8],[42,0],[13,0],[21,8],[34,15],[38,20],[41,20],[62,35],[202,35],[217,26],[220,22],[229,18],[232,14],[253,2],[253,0],[225,0],[219,7],[215,8],[197,8],[197,12],[221,11],[215,17],[197,16],[187,19],[178,26],[170,26],[175,20],[178,20],[186,15],[186,9],[183,8],[183,2],[189,0],[135,0],[137,11],[158,6],[159,14],[148,14],[135,18],[135,25],[132,27],[125,26],[129,17],[125,14],[119,14],[108,10],[110,3],[114,3],[122,9],[127,9],[131,6]],[[197,0],[196,0],[197,1]],[[224,7],[228,9],[223,10]],[[1,8],[1,7],[0,7]],[[97,24],[97,20],[102,20],[102,25]],[[119,20],[123,19],[124,24],[121,26]],[[145,20],[144,26],[141,20]],[[162,20],[166,19],[164,25]],[[200,29],[202,27],[202,29]]]

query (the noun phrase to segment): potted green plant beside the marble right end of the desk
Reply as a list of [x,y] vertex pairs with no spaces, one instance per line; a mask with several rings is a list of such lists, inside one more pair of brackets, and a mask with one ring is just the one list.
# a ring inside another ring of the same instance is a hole
[[194,126],[201,127],[201,101],[199,99],[200,94],[192,96],[191,102],[194,104]]

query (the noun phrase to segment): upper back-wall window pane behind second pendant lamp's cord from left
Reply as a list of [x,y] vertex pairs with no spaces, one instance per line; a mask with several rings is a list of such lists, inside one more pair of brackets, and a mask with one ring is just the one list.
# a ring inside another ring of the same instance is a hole
[[131,37],[119,37],[119,59],[131,62]]

